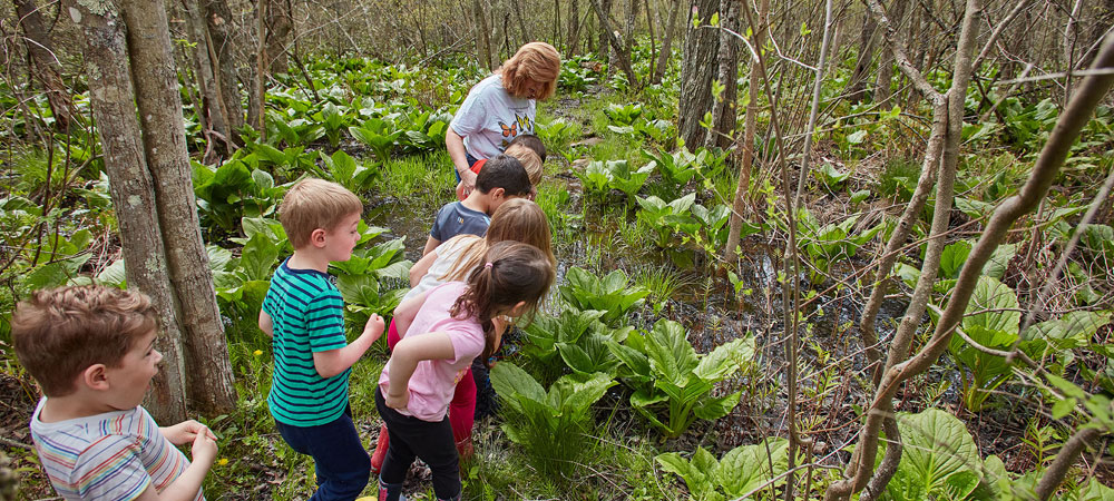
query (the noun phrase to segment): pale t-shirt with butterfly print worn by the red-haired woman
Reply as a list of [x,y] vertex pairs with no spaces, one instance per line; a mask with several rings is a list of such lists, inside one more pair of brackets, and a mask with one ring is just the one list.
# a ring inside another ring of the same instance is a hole
[[476,159],[502,153],[522,134],[534,134],[534,99],[519,99],[502,88],[502,76],[485,78],[460,105],[449,127],[465,138],[465,150]]

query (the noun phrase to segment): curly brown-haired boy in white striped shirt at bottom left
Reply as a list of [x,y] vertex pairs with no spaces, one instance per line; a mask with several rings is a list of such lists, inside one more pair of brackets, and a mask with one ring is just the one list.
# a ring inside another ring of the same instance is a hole
[[156,333],[150,299],[114,287],[36,291],[16,308],[16,356],[43,394],[31,438],[63,499],[205,499],[216,438],[193,420],[159,428],[139,405],[163,360]]

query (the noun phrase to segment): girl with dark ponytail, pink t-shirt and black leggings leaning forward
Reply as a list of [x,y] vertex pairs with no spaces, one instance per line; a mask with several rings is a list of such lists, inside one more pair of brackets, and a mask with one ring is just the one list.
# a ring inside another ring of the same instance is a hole
[[432,470],[439,500],[460,498],[452,426],[447,418],[457,382],[476,357],[487,360],[516,318],[530,316],[556,272],[544,252],[500,242],[468,282],[449,282],[404,301],[395,310],[402,340],[375,390],[390,445],[379,478],[380,501],[399,500],[414,458]]

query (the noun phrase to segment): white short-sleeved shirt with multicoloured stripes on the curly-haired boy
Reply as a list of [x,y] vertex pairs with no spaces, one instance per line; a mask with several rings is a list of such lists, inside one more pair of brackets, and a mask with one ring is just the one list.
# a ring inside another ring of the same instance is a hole
[[[133,500],[149,485],[162,492],[189,461],[166,440],[141,406],[45,423],[31,415],[31,438],[42,469],[63,499]],[[195,500],[204,500],[201,490]]]

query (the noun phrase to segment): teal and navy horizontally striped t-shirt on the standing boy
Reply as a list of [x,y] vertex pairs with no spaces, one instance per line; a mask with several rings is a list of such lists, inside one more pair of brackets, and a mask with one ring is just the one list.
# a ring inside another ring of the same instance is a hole
[[315,269],[293,269],[283,262],[263,299],[274,323],[275,369],[267,406],[276,421],[291,426],[316,426],[340,418],[348,405],[351,369],[325,379],[313,365],[313,354],[348,345],[344,301],[330,276]]

